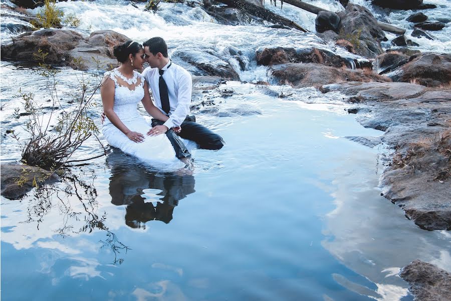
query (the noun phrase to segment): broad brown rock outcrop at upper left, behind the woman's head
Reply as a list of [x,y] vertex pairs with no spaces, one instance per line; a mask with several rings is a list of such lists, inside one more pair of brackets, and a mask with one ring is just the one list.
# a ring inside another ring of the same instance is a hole
[[[67,29],[41,29],[27,32],[13,39],[12,44],[2,46],[3,59],[34,61],[38,50],[48,53],[46,63],[71,66],[82,70],[109,70],[117,64],[113,57],[113,47],[130,40],[114,31],[93,32],[88,39]],[[100,63],[92,60],[94,57]]]

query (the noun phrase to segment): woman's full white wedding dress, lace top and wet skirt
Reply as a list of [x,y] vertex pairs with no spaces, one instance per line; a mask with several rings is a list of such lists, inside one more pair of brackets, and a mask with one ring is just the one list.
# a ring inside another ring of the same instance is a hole
[[[119,119],[130,129],[144,135],[144,141],[136,143],[121,132],[108,118],[102,127],[102,133],[111,146],[120,148],[122,152],[135,156],[142,161],[158,167],[181,168],[184,164],[175,156],[175,150],[165,134],[147,136],[151,125],[137,109],[144,97],[144,77],[133,71],[133,78],[127,79],[119,70],[113,69],[105,73],[114,81],[113,110]],[[132,89],[123,85],[131,85]],[[188,140],[184,140],[185,144]]]

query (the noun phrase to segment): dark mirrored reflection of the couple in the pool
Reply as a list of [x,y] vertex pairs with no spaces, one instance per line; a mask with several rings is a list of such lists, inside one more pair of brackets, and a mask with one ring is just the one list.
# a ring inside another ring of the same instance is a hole
[[144,228],[152,220],[169,223],[174,207],[187,195],[195,192],[194,177],[188,169],[175,172],[152,171],[114,149],[107,157],[111,168],[111,203],[126,205],[125,224]]

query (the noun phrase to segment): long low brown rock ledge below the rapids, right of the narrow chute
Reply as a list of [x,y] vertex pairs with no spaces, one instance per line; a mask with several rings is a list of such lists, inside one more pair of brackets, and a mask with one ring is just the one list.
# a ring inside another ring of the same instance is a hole
[[257,64],[263,66],[286,64],[286,63],[317,63],[326,66],[341,68],[343,66],[352,68],[371,67],[369,61],[357,61],[340,57],[328,50],[317,48],[294,49],[285,47],[264,48],[256,51]]

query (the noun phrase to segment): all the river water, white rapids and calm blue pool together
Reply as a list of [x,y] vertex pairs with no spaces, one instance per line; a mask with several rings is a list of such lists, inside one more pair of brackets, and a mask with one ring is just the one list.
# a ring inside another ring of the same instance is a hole
[[[194,150],[184,169],[156,170],[115,150],[72,168],[63,183],[21,200],[2,197],[2,297],[410,300],[400,267],[421,259],[451,270],[449,232],[419,229],[380,196],[389,150],[346,137],[383,132],[359,125],[345,110],[346,96],[252,84],[268,79],[255,49],[328,45],[294,31],[218,25],[182,5],[162,4],[157,14],[117,1],[58,6],[81,18],[82,32],[164,36],[175,59],[189,47],[197,60],[237,47],[248,57],[246,70],[237,71],[249,83],[222,84],[219,90],[234,93],[214,94],[215,106],[195,112],[227,144]],[[299,18],[308,27],[310,17]],[[81,73],[60,70],[58,106],[70,109]],[[21,106],[18,88],[48,102],[30,68],[2,62],[1,72],[2,163],[11,163],[20,148],[6,130],[27,135],[26,116],[12,117]],[[96,122],[100,110],[90,112]],[[90,139],[74,159],[101,153]]]

